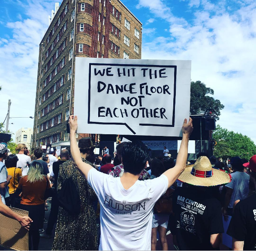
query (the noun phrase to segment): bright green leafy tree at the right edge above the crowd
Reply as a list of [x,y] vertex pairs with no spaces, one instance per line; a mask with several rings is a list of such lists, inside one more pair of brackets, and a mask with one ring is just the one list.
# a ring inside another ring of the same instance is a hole
[[214,156],[216,157],[227,159],[238,156],[250,159],[256,154],[256,145],[248,136],[229,131],[220,125],[217,125],[214,130],[213,139],[217,141],[217,145],[214,147]]

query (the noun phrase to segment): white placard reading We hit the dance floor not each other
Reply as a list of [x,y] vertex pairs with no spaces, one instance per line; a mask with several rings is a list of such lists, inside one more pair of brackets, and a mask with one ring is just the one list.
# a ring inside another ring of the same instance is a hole
[[191,61],[75,58],[78,133],[181,136]]

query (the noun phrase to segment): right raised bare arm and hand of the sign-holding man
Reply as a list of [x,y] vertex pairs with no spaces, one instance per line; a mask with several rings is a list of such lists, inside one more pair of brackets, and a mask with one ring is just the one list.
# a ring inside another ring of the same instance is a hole
[[180,174],[184,171],[186,167],[188,141],[192,131],[193,131],[192,119],[190,118],[188,123],[187,123],[187,119],[185,119],[182,127],[183,136],[181,141],[181,148],[177,156],[176,165],[174,168],[171,168],[163,173],[164,175],[166,175],[166,177],[169,180],[168,188],[172,186],[173,183],[175,183],[175,180],[177,180],[177,178],[180,176]]

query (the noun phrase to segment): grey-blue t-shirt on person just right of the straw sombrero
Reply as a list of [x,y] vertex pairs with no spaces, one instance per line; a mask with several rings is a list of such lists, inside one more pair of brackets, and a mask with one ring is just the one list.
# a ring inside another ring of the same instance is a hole
[[233,208],[234,202],[247,198],[249,193],[250,175],[245,172],[234,172],[231,174],[232,180],[226,185],[233,189],[232,197],[229,203],[229,208]]

